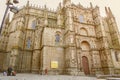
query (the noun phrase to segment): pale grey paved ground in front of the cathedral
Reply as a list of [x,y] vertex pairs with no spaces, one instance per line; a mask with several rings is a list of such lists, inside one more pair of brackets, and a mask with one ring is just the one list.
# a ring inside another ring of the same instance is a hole
[[97,80],[95,77],[68,76],[68,75],[39,75],[39,74],[17,74],[16,76],[3,76],[0,80]]

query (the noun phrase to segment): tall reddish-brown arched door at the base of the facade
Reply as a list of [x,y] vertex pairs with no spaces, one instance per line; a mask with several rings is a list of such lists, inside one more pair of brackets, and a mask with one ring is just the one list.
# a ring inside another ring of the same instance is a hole
[[90,70],[89,70],[89,62],[88,62],[88,58],[83,56],[82,57],[82,64],[83,64],[83,70],[85,75],[89,75],[90,74]]

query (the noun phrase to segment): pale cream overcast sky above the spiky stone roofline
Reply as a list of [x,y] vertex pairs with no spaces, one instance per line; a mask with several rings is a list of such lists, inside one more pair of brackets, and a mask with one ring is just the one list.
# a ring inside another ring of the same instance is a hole
[[[0,25],[3,19],[3,15],[6,9],[6,1],[7,0],[0,0]],[[11,0],[12,2],[13,0]],[[14,6],[17,6],[21,8],[22,6],[26,5],[28,0],[19,0],[19,4],[14,4]],[[63,0],[29,0],[30,4],[35,4],[38,6],[46,6],[51,9],[56,9],[58,4]],[[110,7],[113,15],[116,18],[116,22],[120,31],[120,0],[71,0],[74,4],[80,3],[84,7],[90,7],[90,2],[92,2],[93,6],[95,7],[98,5],[100,7],[100,14],[101,16],[105,15],[105,6]],[[8,11],[10,12],[10,11]],[[11,17],[12,17],[12,13]]]

